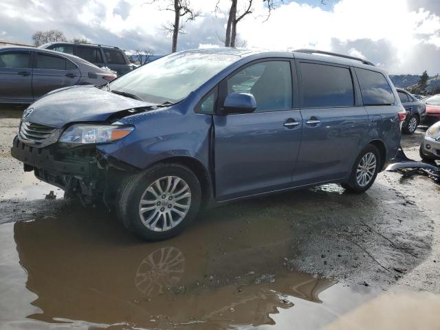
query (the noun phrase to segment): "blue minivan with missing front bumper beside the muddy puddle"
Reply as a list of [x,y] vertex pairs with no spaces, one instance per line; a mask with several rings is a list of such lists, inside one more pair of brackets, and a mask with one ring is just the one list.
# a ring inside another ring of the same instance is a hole
[[361,58],[189,50],[50,92],[24,111],[11,151],[158,240],[225,201],[330,182],[366,191],[395,157],[405,115],[388,75]]

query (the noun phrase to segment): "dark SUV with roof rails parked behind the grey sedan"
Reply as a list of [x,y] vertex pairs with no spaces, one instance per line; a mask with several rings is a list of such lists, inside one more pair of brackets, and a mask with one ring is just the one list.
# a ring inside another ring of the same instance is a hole
[[57,42],[45,43],[39,48],[76,55],[98,67],[109,67],[117,72],[118,76],[122,76],[122,74],[126,74],[135,69],[135,65],[130,63],[125,52],[118,47],[90,43]]

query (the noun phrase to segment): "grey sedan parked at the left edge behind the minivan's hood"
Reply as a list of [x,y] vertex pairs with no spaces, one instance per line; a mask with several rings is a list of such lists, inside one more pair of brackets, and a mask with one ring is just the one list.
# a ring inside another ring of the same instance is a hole
[[32,103],[72,85],[103,85],[115,75],[82,58],[34,47],[0,47],[0,103]]

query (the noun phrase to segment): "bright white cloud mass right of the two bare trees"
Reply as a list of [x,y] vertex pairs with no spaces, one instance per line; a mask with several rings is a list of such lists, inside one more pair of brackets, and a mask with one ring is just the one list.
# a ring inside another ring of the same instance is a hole
[[[255,14],[264,12],[259,4]],[[291,2],[274,10],[267,22],[260,22],[246,19],[239,25],[239,32],[250,47],[331,51],[332,39],[341,43],[359,39],[387,41],[396,50],[396,61],[386,68],[391,72],[411,71],[406,59],[421,43],[440,46],[440,17],[423,9],[411,11],[401,0],[341,0],[330,11]]]

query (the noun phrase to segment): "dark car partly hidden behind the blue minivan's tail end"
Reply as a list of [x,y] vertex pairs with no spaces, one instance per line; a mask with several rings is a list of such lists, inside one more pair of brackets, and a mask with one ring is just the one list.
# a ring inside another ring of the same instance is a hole
[[406,120],[402,125],[402,131],[412,134],[426,117],[426,105],[404,89],[397,88],[397,95],[406,110]]

